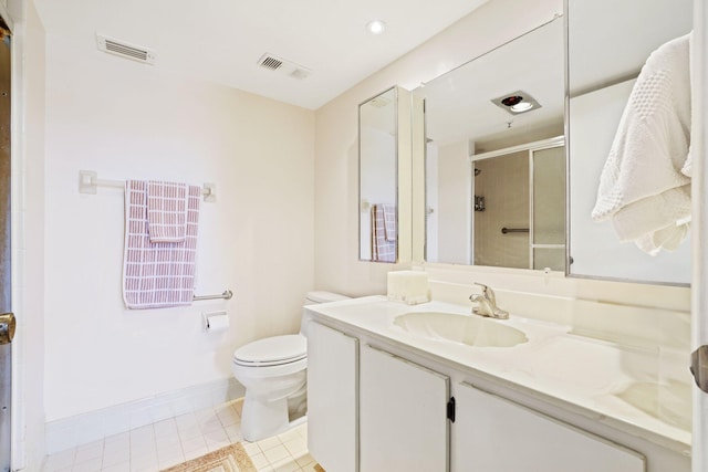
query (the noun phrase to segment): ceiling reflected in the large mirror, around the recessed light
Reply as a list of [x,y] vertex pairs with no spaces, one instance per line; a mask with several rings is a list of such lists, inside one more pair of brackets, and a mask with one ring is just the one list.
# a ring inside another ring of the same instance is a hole
[[[563,134],[563,19],[558,18],[426,83],[415,91],[426,98],[426,136],[438,145],[468,139],[480,145],[519,135],[528,143],[544,129]],[[513,115],[491,102],[513,92],[532,96],[541,107]]]

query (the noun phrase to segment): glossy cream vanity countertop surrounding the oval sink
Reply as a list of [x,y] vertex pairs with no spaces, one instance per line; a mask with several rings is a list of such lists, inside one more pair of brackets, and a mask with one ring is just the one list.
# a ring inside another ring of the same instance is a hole
[[[490,319],[522,331],[528,342],[512,347],[475,347],[407,333],[394,325],[396,316],[413,312],[471,315],[468,307],[444,302],[405,305],[385,296],[368,296],[305,307],[315,319],[403,344],[483,373],[508,384],[561,400],[603,418],[612,427],[689,454],[690,385],[684,382],[685,353],[620,346],[571,334],[563,326],[510,316]],[[332,323],[333,322],[333,323]],[[680,380],[677,380],[680,379]]]

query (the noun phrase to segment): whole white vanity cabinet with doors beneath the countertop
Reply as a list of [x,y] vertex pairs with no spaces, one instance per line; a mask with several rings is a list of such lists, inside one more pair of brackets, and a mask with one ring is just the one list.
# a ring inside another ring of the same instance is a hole
[[308,445],[327,471],[690,470],[603,418],[348,326],[316,319],[308,335]]

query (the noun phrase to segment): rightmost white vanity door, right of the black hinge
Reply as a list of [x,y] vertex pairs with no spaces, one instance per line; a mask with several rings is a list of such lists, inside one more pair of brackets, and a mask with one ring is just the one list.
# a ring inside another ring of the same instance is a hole
[[643,455],[509,400],[460,384],[454,472],[644,472]]

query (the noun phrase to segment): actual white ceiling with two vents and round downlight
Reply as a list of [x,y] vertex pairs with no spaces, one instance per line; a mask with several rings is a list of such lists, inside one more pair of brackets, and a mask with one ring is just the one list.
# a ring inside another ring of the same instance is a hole
[[[156,53],[154,65],[316,109],[487,0],[35,0],[48,35],[96,34]],[[386,22],[381,35],[365,25]],[[259,65],[270,53],[312,72]],[[117,60],[122,60],[116,57]]]

